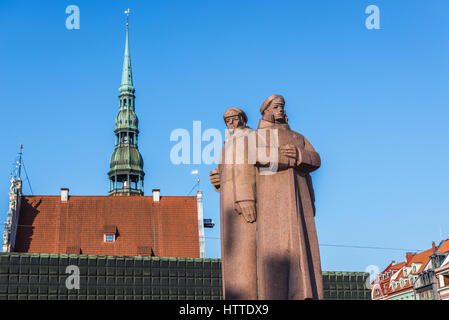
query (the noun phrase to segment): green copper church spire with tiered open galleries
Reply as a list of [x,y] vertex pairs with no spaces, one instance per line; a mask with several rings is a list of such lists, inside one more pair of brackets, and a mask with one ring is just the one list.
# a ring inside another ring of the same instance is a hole
[[119,88],[119,111],[115,118],[115,149],[108,172],[111,196],[143,196],[145,173],[143,159],[137,145],[139,120],[135,113],[134,92],[129,51],[129,23],[127,22],[122,83]]

